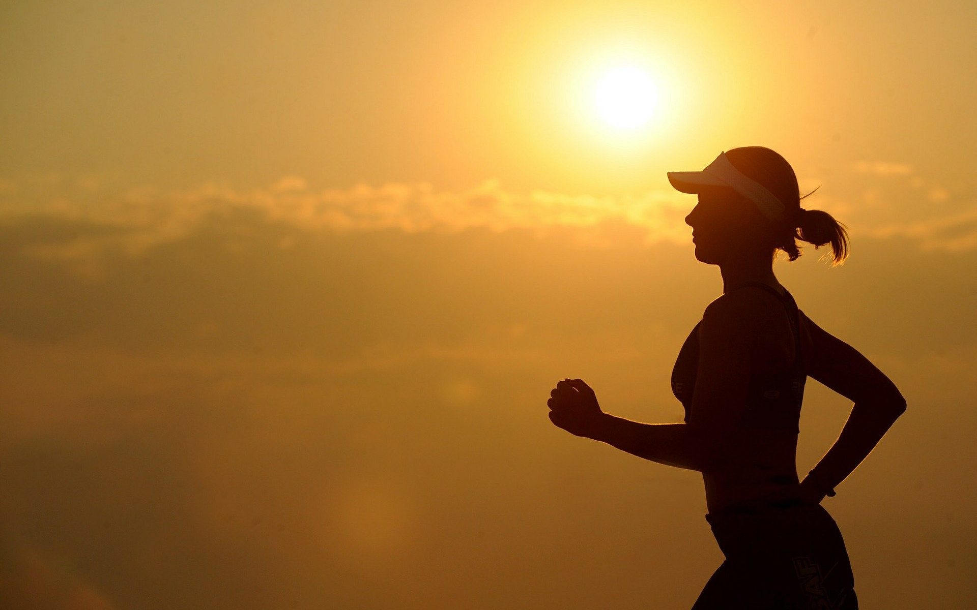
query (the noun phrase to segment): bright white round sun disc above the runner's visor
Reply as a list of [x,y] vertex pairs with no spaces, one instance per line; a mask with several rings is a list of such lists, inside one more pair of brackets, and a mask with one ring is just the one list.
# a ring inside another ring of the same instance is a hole
[[597,82],[594,105],[605,123],[634,129],[647,123],[658,105],[658,92],[642,69],[621,65],[605,72]]

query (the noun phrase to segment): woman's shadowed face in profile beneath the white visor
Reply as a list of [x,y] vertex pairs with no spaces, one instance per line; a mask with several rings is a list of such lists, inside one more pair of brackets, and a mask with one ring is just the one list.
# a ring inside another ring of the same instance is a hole
[[758,248],[757,227],[763,219],[749,202],[728,188],[704,190],[698,196],[699,203],[685,217],[692,227],[696,259],[722,264]]

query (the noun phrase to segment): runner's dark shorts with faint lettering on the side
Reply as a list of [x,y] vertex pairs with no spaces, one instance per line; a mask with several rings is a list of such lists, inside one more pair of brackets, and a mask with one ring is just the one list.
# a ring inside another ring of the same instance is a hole
[[857,610],[848,551],[828,510],[786,505],[705,515],[726,560],[692,610]]

